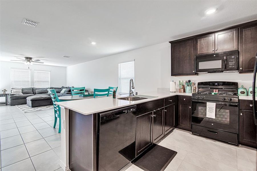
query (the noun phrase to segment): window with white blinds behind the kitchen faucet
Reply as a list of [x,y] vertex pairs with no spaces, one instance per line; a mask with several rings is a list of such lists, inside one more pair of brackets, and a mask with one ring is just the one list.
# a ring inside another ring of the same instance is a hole
[[135,81],[134,61],[119,64],[119,94],[129,93],[129,80]]

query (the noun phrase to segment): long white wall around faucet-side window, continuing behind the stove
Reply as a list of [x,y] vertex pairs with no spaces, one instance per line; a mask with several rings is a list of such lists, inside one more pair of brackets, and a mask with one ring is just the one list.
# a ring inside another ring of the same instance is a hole
[[171,46],[169,42],[68,66],[67,85],[106,88],[118,86],[118,64],[135,59],[135,91],[156,91],[169,88],[174,80],[191,81],[234,81],[247,89],[252,83],[252,74],[217,73],[199,76],[171,76]]

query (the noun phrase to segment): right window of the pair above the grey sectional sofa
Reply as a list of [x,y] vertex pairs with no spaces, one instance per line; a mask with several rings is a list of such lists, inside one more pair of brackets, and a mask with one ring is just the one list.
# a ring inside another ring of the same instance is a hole
[[50,87],[50,71],[34,71],[34,87]]

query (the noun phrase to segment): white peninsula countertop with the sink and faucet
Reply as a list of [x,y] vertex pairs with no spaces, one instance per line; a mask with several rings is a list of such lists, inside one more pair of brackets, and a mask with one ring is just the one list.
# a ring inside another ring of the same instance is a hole
[[192,96],[192,93],[169,93],[166,91],[152,91],[152,92],[146,92],[146,93],[139,93],[139,95],[150,95],[150,96],[158,96],[158,97],[151,98],[151,99],[142,99],[138,101],[127,101],[127,100],[118,99],[119,97],[126,97],[127,95],[121,95],[121,96],[116,95],[116,99],[113,99],[111,95],[109,97],[97,97],[92,99],[62,101],[62,102],[57,102],[56,104],[84,115],[90,115],[92,113],[98,113],[98,112],[116,109],[120,107],[126,107],[129,105],[139,104],[139,103],[152,101],[156,99],[162,99],[162,98],[174,96],[174,95]]

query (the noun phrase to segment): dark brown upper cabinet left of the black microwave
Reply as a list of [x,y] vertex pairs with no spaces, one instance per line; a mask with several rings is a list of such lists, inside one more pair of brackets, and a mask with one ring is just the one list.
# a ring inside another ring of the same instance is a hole
[[171,44],[171,76],[195,75],[195,38]]

